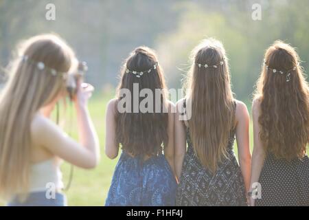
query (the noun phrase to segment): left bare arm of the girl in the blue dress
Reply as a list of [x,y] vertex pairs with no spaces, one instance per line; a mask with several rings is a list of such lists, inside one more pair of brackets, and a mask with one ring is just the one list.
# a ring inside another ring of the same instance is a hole
[[115,159],[119,152],[119,143],[116,142],[115,108],[117,99],[112,99],[107,104],[105,124],[105,154]]

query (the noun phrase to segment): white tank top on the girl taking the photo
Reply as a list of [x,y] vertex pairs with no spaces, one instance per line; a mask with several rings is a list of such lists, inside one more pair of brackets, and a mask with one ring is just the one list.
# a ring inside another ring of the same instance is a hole
[[29,177],[30,192],[46,191],[51,188],[60,191],[64,188],[60,161],[55,158],[32,164]]

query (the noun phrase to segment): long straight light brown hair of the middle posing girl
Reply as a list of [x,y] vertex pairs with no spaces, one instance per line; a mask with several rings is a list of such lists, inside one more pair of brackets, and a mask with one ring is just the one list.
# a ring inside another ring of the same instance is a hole
[[[217,67],[205,68],[205,64]],[[188,75],[185,88],[192,107],[188,121],[190,137],[201,164],[214,173],[218,163],[227,157],[229,135],[234,126],[229,65],[222,43],[206,39],[194,48]]]

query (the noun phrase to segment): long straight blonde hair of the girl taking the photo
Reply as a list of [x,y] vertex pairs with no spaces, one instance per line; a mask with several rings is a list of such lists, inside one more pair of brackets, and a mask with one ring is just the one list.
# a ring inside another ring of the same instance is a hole
[[[30,61],[23,62],[21,56]],[[10,78],[0,94],[0,196],[27,193],[32,151],[31,123],[41,107],[65,91],[62,74],[53,76],[47,68],[68,72],[73,58],[71,48],[54,34],[34,36],[22,42],[10,65]]]

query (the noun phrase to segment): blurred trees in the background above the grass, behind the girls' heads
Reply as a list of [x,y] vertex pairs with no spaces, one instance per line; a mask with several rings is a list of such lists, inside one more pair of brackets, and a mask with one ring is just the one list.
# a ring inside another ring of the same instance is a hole
[[[56,21],[45,19],[47,3],[56,5]],[[251,18],[253,3],[262,7],[261,21]],[[192,48],[215,37],[226,47],[233,91],[249,101],[273,41],[297,47],[308,69],[308,6],[307,0],[0,0],[0,65],[21,39],[56,32],[87,61],[87,80],[99,89],[115,87],[124,58],[139,45],[157,50],[168,86],[179,88]]]

